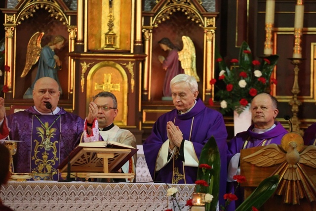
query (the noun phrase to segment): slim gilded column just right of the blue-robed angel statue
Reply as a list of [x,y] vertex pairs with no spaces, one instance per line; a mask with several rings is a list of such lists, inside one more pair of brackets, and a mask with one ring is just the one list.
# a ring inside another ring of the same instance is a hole
[[[75,41],[77,37],[77,26],[68,26],[69,32],[69,52],[73,52],[75,50]],[[69,78],[69,87],[68,87],[68,99],[71,99],[74,94],[74,59],[71,56],[68,57],[68,78]]]

